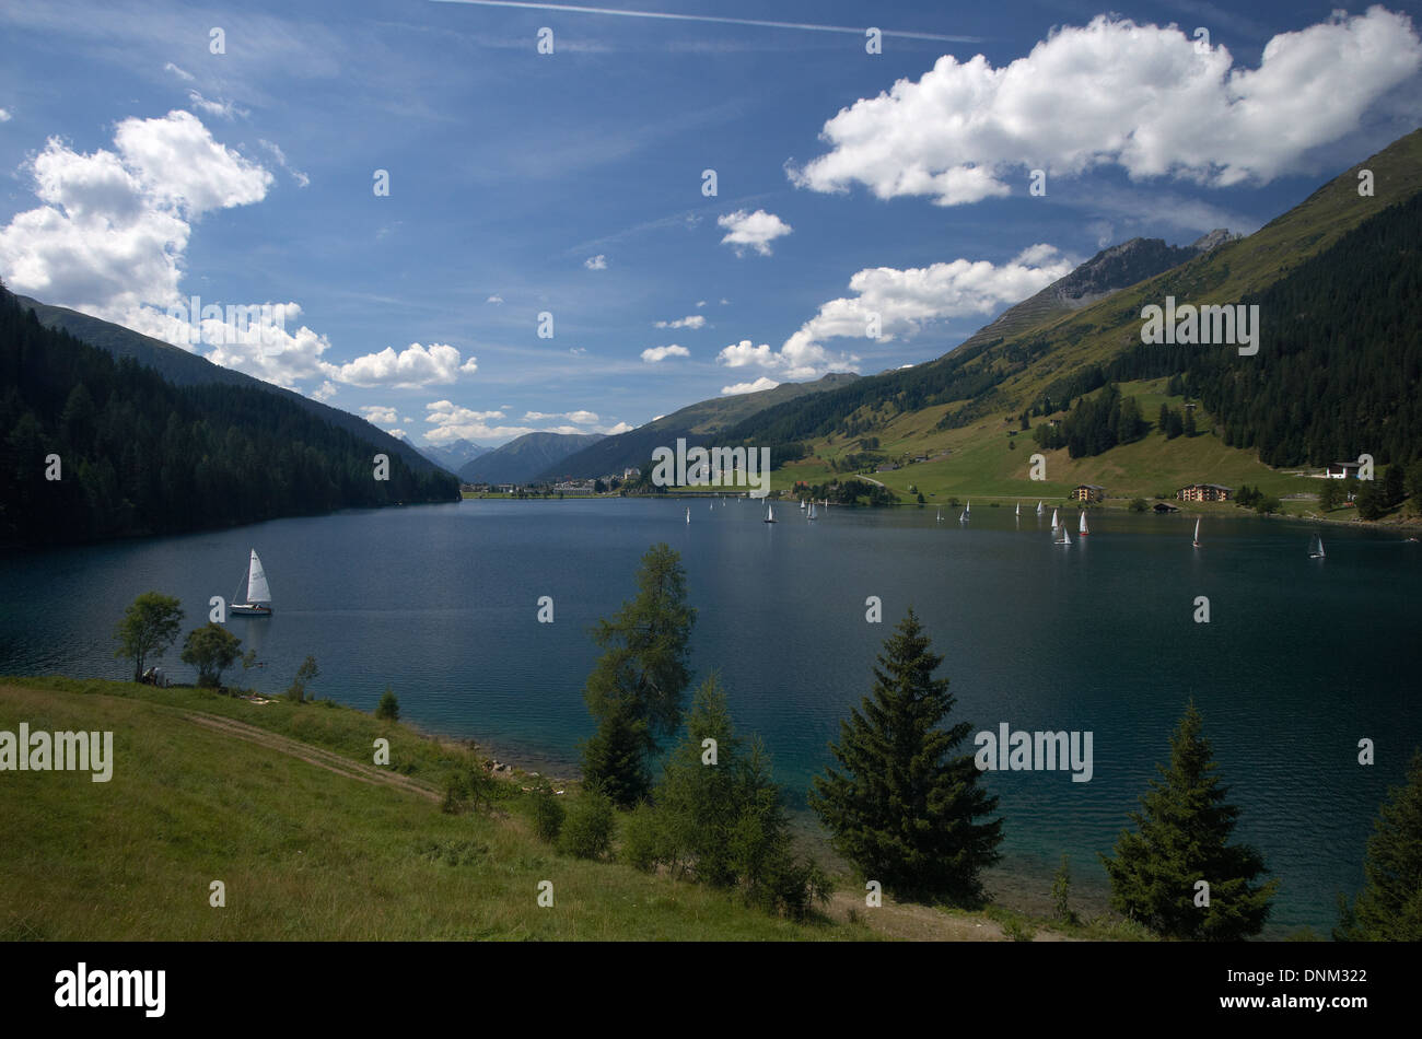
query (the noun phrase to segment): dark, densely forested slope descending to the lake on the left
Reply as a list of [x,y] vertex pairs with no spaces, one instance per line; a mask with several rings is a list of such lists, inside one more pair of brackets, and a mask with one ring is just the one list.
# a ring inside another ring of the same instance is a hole
[[[175,387],[38,321],[0,286],[0,543],[169,534],[395,502],[458,479],[246,387]],[[57,456],[55,459],[51,456]]]

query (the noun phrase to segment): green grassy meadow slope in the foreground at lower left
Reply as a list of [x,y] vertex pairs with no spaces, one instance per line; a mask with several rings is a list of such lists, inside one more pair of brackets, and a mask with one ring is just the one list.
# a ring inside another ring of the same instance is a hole
[[[112,731],[114,776],[0,782],[0,940],[857,940],[734,895],[556,854],[510,785],[493,813],[370,785],[212,732],[225,715],[434,786],[474,752],[348,708],[264,706],[127,682],[3,679],[0,729]],[[405,769],[401,769],[405,770]],[[570,790],[569,797],[576,797]],[[209,884],[226,884],[226,907]],[[553,881],[540,908],[538,884]]]

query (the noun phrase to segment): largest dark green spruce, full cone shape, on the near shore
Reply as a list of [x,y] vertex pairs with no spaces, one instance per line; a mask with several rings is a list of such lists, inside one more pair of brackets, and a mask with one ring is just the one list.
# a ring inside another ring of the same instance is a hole
[[907,898],[977,903],[998,860],[1003,822],[971,753],[971,725],[943,728],[956,696],[933,677],[943,657],[913,610],[884,641],[873,692],[840,722],[839,769],[815,779],[811,806],[835,847],[869,880]]

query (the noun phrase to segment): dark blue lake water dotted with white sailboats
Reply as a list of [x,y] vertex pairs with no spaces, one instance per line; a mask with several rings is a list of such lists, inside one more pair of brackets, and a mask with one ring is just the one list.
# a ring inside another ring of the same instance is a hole
[[[1354,891],[1385,790],[1422,743],[1416,596],[1422,546],[1244,515],[1209,517],[1204,547],[1182,516],[1095,513],[1069,549],[1045,522],[981,503],[971,524],[933,509],[830,509],[808,523],[752,502],[483,500],[347,512],[237,530],[0,559],[0,672],[127,677],[111,631],[149,588],[176,594],[186,627],[230,597],[249,549],[266,566],[270,618],[229,627],[266,661],[232,678],[280,692],[313,654],[317,695],[482,739],[515,760],[572,763],[592,729],[587,628],[634,594],[654,542],[677,549],[698,608],[698,677],[720,669],[742,732],[803,803],[839,719],[870,689],[875,654],[912,604],[946,657],[974,729],[1091,731],[1095,775],[994,773],[1005,873],[1045,890],[1059,856],[1099,894],[1106,851],[1169,755],[1186,701],[1204,715],[1239,834],[1283,880],[1271,932],[1327,932]],[[1075,519],[1075,513],[1071,515]],[[1075,526],[1075,524],[1074,524]],[[555,623],[539,624],[552,596]],[[865,621],[883,600],[884,623]],[[1207,596],[1212,621],[1193,620]],[[164,661],[178,681],[192,669]],[[1358,741],[1378,763],[1357,762]],[[971,748],[966,748],[971,749]]]

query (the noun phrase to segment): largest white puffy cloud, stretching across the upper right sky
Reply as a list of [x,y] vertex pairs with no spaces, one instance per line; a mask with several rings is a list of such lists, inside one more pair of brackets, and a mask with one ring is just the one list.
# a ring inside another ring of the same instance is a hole
[[820,134],[829,152],[786,172],[819,192],[860,183],[943,206],[1025,190],[1030,169],[1103,163],[1132,179],[1264,183],[1355,131],[1419,67],[1411,18],[1378,6],[1273,37],[1257,68],[1173,24],[1102,14],[1000,68],[943,55],[919,81],[840,109]]

